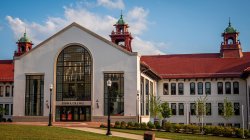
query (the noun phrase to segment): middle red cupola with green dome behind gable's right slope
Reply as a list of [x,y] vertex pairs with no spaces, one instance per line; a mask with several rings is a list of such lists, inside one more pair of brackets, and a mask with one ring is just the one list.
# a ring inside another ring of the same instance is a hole
[[122,13],[120,19],[114,26],[115,26],[115,31],[112,31],[110,35],[111,41],[121,46],[123,49],[132,52],[131,41],[133,37],[131,33],[128,32],[129,26],[123,20]]

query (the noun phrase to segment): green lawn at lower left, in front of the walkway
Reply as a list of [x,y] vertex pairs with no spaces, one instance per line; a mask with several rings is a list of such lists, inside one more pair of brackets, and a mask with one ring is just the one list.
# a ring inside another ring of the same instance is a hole
[[[0,140],[122,140],[123,138],[59,127],[0,124]],[[124,139],[125,140],[125,139]]]

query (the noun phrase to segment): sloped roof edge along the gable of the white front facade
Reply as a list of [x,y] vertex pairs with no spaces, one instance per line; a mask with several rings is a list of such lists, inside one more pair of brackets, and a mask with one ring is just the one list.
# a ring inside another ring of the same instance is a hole
[[50,41],[51,39],[53,39],[53,38],[55,38],[56,36],[62,34],[63,32],[65,32],[66,30],[68,30],[69,28],[71,28],[71,27],[73,27],[73,26],[74,26],[74,27],[77,27],[77,28],[79,28],[79,29],[81,29],[81,30],[84,31],[84,32],[87,32],[88,34],[94,36],[95,38],[97,38],[97,39],[99,39],[99,40],[101,40],[101,41],[103,41],[103,42],[109,44],[110,46],[112,46],[112,47],[114,47],[114,48],[116,48],[116,49],[118,49],[118,50],[120,50],[120,51],[122,51],[122,52],[124,52],[124,53],[126,53],[126,54],[128,54],[128,55],[131,55],[131,56],[138,55],[137,52],[129,52],[129,51],[127,51],[127,50],[121,48],[120,46],[116,45],[115,43],[113,43],[113,42],[111,42],[111,41],[105,39],[104,37],[102,37],[102,36],[100,36],[100,35],[98,35],[98,34],[92,32],[92,31],[90,31],[89,29],[87,29],[87,28],[85,28],[85,27],[83,27],[83,26],[81,26],[81,25],[79,25],[79,24],[77,24],[77,23],[75,23],[75,22],[73,22],[73,23],[71,23],[70,25],[68,25],[68,26],[66,26],[65,28],[63,28],[62,30],[60,30],[60,31],[58,31],[57,33],[55,33],[54,35],[50,36],[49,38],[47,38],[46,40],[44,40],[43,42],[41,42],[41,43],[38,44],[37,46],[35,46],[33,49],[31,49],[31,50],[28,51],[27,53],[25,53],[25,54],[23,54],[23,55],[21,55],[21,56],[15,57],[14,59],[20,59],[20,58],[24,57],[24,56],[27,55],[28,53],[31,53],[31,52],[34,51],[35,49],[41,47],[43,44],[47,43],[47,42]]

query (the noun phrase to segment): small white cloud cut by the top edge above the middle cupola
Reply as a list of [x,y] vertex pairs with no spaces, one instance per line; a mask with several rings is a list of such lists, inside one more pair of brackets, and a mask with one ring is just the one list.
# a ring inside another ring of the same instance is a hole
[[123,0],[97,0],[98,5],[110,9],[124,9],[125,5]]

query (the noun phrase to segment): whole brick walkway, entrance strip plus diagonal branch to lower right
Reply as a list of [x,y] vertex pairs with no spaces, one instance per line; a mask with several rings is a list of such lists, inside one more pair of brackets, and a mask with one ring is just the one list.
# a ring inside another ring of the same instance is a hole
[[[20,124],[20,125],[37,125],[37,126],[47,126],[47,122],[13,122],[9,124]],[[68,129],[74,130],[81,130],[86,132],[98,133],[105,135],[107,130],[98,129],[100,127],[100,122],[53,122],[53,126],[56,127],[63,127]],[[135,135],[123,132],[115,132],[112,131],[113,136],[129,138],[129,139],[136,139],[136,140],[143,140],[142,135]],[[167,140],[162,138],[156,138],[156,140]]]

